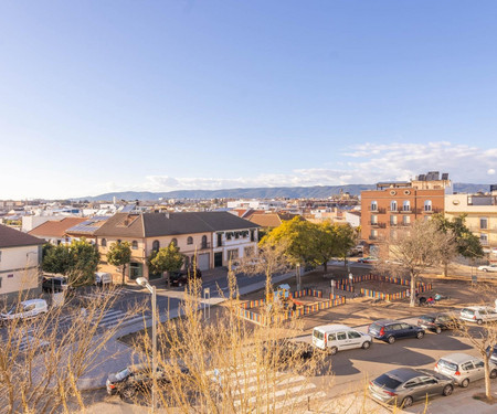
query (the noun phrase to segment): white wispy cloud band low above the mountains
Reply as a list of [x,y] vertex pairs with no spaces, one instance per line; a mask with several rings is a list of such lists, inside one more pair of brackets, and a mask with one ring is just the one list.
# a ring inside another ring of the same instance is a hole
[[497,148],[482,149],[447,141],[427,144],[366,142],[347,148],[336,168],[295,169],[288,174],[262,173],[237,178],[181,178],[149,176],[134,188],[108,183],[107,191],[218,190],[253,187],[308,187],[409,180],[427,171],[448,172],[457,182],[491,181]]

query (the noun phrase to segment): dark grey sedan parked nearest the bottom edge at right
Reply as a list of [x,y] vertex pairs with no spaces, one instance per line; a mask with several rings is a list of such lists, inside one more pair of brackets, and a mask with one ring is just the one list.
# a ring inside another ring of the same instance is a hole
[[416,400],[426,400],[432,395],[451,395],[453,380],[432,370],[398,368],[385,372],[369,383],[369,393],[374,400],[411,406]]

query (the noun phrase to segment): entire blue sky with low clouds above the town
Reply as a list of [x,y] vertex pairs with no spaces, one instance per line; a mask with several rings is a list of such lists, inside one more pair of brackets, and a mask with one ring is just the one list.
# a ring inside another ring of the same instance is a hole
[[497,2],[3,1],[0,199],[497,182]]

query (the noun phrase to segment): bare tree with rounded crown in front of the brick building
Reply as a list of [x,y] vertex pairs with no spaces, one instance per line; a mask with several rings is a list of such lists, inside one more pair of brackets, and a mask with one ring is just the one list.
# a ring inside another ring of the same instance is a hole
[[444,252],[451,250],[453,244],[453,236],[442,232],[430,220],[417,220],[412,226],[400,232],[396,240],[391,240],[390,257],[411,278],[411,307],[415,306],[414,293],[420,275],[426,268],[440,264]]

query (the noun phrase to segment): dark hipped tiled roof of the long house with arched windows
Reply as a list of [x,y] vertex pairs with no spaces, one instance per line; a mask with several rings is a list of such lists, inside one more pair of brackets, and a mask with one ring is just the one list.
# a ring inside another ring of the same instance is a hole
[[117,213],[94,234],[141,238],[256,227],[257,224],[228,212]]

